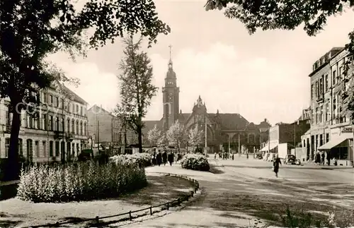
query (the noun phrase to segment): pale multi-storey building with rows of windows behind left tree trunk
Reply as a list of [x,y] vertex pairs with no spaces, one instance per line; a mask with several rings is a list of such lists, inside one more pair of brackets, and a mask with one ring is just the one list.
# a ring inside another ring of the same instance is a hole
[[[61,92],[59,92],[61,91]],[[87,103],[69,88],[55,85],[38,94],[37,114],[21,112],[19,154],[30,162],[71,160],[86,147]],[[8,157],[13,114],[0,102],[0,157]]]

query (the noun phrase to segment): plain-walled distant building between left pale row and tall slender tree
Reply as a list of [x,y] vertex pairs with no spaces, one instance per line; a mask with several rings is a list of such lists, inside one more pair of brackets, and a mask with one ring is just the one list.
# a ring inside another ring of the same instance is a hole
[[118,148],[120,145],[130,145],[135,142],[135,133],[125,127],[120,119],[111,112],[93,105],[88,111],[89,137],[95,143],[105,147]]

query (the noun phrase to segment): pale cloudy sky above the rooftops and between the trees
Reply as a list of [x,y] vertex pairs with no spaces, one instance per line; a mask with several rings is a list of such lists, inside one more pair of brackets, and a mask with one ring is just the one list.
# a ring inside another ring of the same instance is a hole
[[[332,47],[348,42],[354,12],[329,18],[325,30],[309,37],[297,30],[258,30],[249,35],[238,20],[223,11],[205,11],[205,1],[156,0],[159,18],[171,27],[152,48],[143,47],[154,68],[159,92],[145,119],[162,117],[162,92],[172,45],[173,70],[180,88],[180,109],[190,113],[198,96],[207,112],[239,113],[249,122],[292,122],[309,106],[312,64]],[[73,62],[64,53],[50,56],[69,77],[79,78],[75,88],[86,102],[109,111],[120,101],[118,63],[122,42],[91,50]]]

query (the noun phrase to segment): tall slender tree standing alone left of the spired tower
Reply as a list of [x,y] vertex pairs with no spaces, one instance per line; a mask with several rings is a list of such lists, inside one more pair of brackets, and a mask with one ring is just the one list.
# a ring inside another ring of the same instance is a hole
[[152,84],[152,65],[146,52],[140,52],[142,39],[134,42],[132,37],[124,40],[125,57],[120,62],[118,80],[120,81],[121,103],[116,113],[125,119],[127,125],[138,135],[139,152],[142,152],[142,119],[147,114],[152,97],[158,88]]

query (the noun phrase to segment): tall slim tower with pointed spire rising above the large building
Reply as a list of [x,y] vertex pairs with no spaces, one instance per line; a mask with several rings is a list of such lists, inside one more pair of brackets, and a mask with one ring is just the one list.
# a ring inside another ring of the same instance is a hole
[[173,63],[171,60],[171,45],[169,70],[166,73],[165,86],[162,88],[162,102],[164,107],[164,116],[162,122],[164,131],[169,130],[170,126],[178,120],[179,112],[179,87],[177,87],[176,73],[173,71]]

